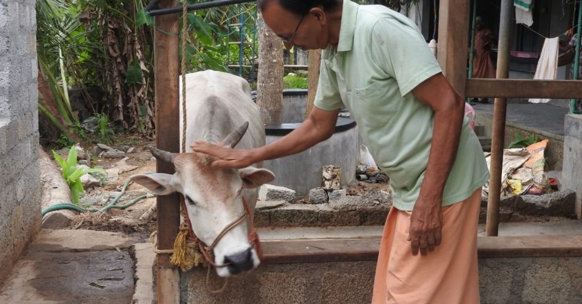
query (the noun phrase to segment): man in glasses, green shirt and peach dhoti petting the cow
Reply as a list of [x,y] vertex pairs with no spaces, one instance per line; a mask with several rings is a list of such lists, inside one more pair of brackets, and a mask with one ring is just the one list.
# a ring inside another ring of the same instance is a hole
[[477,222],[489,173],[464,99],[418,28],[384,6],[349,0],[258,4],[286,47],[324,49],[313,111],[261,148],[197,142],[194,151],[229,168],[299,153],[331,137],[345,106],[393,188],[372,302],[479,303]]

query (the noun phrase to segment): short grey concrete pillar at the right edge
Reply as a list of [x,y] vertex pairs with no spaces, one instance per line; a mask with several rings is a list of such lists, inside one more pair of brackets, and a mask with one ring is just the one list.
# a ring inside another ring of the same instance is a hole
[[582,115],[566,115],[564,120],[564,166],[562,185],[576,191],[574,208],[582,218]]

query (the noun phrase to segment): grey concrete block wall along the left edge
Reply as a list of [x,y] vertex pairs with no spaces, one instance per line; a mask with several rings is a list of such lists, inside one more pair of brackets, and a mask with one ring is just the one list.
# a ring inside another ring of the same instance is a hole
[[36,1],[0,1],[0,283],[40,230]]

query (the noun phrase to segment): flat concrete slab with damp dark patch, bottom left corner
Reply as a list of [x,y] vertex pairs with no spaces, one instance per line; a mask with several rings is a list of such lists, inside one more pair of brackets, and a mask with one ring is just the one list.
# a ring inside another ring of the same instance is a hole
[[43,230],[0,289],[0,303],[130,303],[130,239],[93,230]]

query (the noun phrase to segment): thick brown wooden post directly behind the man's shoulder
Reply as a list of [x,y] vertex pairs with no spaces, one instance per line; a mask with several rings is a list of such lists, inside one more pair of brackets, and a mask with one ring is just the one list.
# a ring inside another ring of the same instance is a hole
[[438,62],[455,90],[465,97],[469,1],[441,0],[438,24]]

